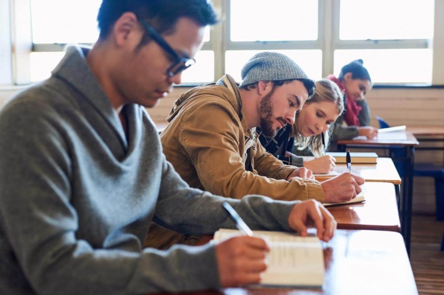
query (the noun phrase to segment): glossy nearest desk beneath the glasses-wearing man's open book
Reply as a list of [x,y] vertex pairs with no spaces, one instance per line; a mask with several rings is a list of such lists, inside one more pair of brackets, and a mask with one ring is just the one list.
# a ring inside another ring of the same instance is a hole
[[417,295],[402,236],[392,231],[338,229],[324,244],[324,287],[228,288],[199,295]]

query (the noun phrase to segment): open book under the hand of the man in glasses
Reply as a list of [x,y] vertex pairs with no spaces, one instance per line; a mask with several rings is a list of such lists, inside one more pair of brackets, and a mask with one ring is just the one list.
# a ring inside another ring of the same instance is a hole
[[[295,233],[254,230],[269,240],[268,267],[261,274],[261,286],[322,286],[324,252],[317,236],[301,237]],[[236,229],[219,229],[214,240],[240,235]]]

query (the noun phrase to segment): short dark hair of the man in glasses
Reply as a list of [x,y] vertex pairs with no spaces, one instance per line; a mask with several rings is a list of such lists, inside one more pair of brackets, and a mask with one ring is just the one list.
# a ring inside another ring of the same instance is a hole
[[[158,33],[173,33],[176,22],[188,17],[205,27],[218,22],[208,0],[103,0],[97,15],[99,39],[105,39],[117,19],[125,12],[133,12]],[[140,45],[150,41],[145,36]]]

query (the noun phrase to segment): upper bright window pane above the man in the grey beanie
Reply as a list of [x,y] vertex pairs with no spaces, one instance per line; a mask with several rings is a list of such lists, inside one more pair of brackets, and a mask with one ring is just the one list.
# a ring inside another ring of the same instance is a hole
[[231,41],[318,39],[318,0],[230,1]]

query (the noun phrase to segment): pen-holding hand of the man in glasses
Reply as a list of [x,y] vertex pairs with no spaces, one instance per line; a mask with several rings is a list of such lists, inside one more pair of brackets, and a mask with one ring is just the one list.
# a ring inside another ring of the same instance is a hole
[[259,237],[242,235],[223,240],[216,245],[221,287],[257,284],[260,273],[267,268],[267,243]]

